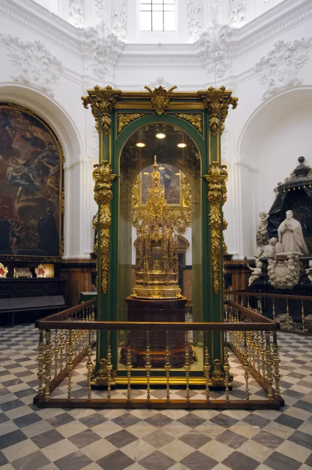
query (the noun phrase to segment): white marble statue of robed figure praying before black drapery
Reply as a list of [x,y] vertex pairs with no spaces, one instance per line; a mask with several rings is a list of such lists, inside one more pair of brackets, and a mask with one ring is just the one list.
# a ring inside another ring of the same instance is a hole
[[309,255],[300,222],[293,218],[292,211],[286,211],[286,219],[278,227],[278,240],[283,246],[283,253]]

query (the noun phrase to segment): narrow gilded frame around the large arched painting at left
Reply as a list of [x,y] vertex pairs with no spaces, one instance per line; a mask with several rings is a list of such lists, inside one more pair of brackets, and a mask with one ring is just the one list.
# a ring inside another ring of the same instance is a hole
[[55,132],[51,127],[39,116],[33,113],[30,109],[25,108],[16,103],[0,103],[1,108],[16,109],[22,111],[29,116],[37,119],[50,133],[51,137],[54,139],[57,149],[60,155],[60,197],[59,197],[59,256],[40,256],[40,255],[3,255],[0,254],[1,259],[12,259],[15,261],[42,261],[42,262],[59,262],[64,256],[64,212],[65,212],[65,194],[64,194],[64,168],[65,157],[62,145],[58,138],[56,137]]

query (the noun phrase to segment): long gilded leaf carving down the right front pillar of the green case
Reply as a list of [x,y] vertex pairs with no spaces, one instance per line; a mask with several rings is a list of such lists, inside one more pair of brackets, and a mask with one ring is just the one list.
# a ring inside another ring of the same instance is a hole
[[[220,290],[220,259],[221,259],[221,207],[226,201],[227,171],[226,165],[220,166],[218,162],[211,162],[208,174],[208,201],[210,204],[209,225],[211,238],[211,264],[213,276],[213,289],[215,294]],[[223,225],[224,227],[224,225]]]

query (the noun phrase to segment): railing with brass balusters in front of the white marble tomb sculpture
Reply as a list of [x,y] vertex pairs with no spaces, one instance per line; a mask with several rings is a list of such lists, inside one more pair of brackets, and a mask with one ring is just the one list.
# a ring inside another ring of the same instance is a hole
[[281,328],[287,332],[309,334],[310,330],[312,333],[312,317],[310,316],[312,314],[312,297],[227,291],[225,298],[247,308],[254,308],[261,315],[272,318],[274,321],[278,320],[281,323]]

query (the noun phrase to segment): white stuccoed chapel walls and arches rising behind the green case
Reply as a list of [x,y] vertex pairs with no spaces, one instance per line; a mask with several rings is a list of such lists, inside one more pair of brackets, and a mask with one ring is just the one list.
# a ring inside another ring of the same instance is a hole
[[304,131],[312,124],[310,3],[168,0],[154,7],[147,0],[0,0],[1,101],[28,106],[61,141],[64,256],[88,259],[98,135],[81,95],[96,84],[233,90],[239,107],[222,137],[225,242],[236,258],[251,256],[257,214],[269,210],[277,179],[300,155],[312,164]]

